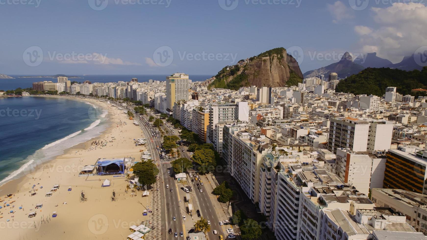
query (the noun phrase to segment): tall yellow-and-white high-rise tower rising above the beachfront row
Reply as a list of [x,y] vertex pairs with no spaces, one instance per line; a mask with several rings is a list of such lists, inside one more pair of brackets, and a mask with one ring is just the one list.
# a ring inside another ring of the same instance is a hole
[[178,72],[166,77],[167,111],[170,113],[176,102],[188,100],[188,80],[187,74]]

